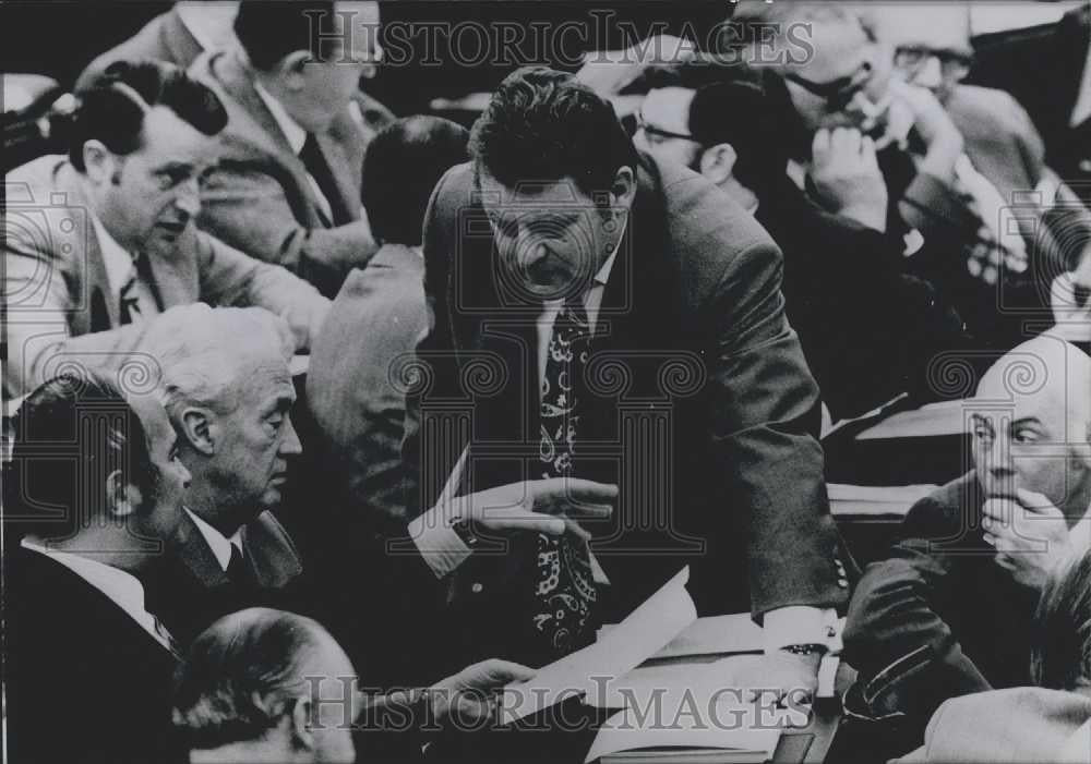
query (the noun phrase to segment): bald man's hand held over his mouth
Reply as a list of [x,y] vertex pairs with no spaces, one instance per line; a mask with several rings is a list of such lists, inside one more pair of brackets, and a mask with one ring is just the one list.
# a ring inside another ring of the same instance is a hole
[[985,501],[985,543],[996,549],[996,563],[1016,581],[1041,591],[1071,554],[1071,534],[1065,516],[1042,494],[1017,488],[1016,497]]

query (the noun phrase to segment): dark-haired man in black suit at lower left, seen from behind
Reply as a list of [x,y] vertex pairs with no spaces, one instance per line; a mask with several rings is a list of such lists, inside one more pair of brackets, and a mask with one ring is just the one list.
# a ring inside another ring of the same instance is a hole
[[15,428],[3,474],[7,754],[166,761],[177,654],[141,579],[157,574],[190,480],[167,414],[103,378],[62,376],[31,393]]

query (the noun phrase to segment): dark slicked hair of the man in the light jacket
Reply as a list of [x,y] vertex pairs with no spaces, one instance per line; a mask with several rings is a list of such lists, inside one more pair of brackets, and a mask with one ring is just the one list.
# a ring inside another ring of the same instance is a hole
[[72,117],[68,145],[69,159],[80,172],[86,172],[83,145],[88,141],[101,141],[120,156],[137,150],[144,113],[154,106],[167,107],[205,135],[227,125],[219,97],[164,61],[115,61],[76,96],[80,107]]

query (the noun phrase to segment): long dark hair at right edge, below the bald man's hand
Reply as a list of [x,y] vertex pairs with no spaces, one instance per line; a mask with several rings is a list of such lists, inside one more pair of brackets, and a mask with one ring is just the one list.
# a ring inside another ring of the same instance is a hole
[[1091,550],[1046,583],[1034,617],[1031,678],[1039,687],[1091,686]]

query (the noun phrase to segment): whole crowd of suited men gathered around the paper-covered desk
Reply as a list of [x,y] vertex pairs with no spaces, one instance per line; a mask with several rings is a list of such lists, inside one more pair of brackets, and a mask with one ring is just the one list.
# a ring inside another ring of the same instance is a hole
[[[11,761],[442,756],[685,565],[744,687],[843,642],[867,755],[1086,761],[1091,5],[1048,141],[960,3],[739,3],[470,130],[367,95],[379,10],[178,3],[5,178]],[[820,438],[952,357],[972,464],[860,570]]]

